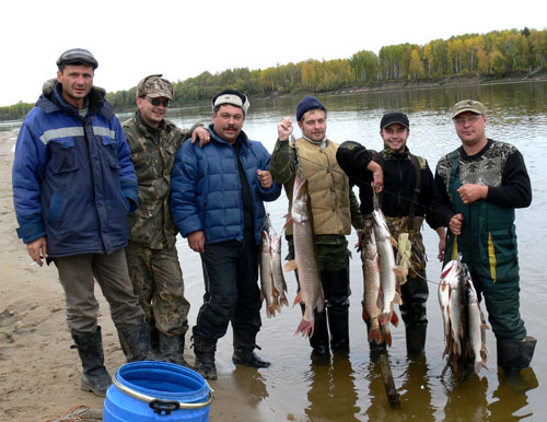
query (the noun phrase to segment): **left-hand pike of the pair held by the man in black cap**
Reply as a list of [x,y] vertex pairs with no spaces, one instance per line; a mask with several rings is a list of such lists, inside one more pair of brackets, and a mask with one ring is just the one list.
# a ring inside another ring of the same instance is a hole
[[376,250],[376,238],[374,228],[366,234],[366,242],[361,250],[363,266],[364,292],[363,292],[363,319],[370,321],[369,342],[373,340],[382,342],[380,328],[380,316],[382,315],[383,301],[380,290],[380,261]]

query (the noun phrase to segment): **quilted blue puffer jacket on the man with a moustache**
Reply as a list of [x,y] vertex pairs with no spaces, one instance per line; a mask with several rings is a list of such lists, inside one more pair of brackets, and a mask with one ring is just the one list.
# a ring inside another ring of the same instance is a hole
[[[171,212],[181,234],[187,237],[205,232],[206,244],[243,238],[243,204],[235,151],[209,127],[211,141],[200,148],[185,142],[177,151],[171,174]],[[240,160],[253,196],[255,241],[260,243],[260,228],[266,211],[263,201],[279,198],[281,186],[274,183],[264,189],[257,169],[268,169],[270,154],[260,142],[241,132]]]

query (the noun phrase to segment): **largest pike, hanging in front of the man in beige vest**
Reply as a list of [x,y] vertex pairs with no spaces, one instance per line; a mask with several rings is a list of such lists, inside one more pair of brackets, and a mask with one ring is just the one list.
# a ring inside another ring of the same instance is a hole
[[315,249],[307,180],[302,180],[300,175],[294,178],[290,221],[292,222],[294,239],[294,260],[287,262],[284,270],[298,269],[300,291],[294,300],[294,305],[296,303],[304,303],[305,305],[304,315],[294,333],[311,337],[313,336],[315,323],[314,309],[323,312],[325,296],[321,284],[319,265]]

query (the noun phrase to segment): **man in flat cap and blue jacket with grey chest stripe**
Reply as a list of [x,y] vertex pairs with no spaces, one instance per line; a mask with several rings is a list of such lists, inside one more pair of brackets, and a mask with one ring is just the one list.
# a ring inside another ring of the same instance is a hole
[[144,314],[127,271],[127,214],[137,208],[137,178],[124,130],[105,92],[93,86],[97,61],[81,48],[57,60],[19,133],[13,162],[18,235],[38,263],[54,261],[67,323],[82,361],[82,389],[104,396],[104,366],[94,278],[128,361],[148,356]]

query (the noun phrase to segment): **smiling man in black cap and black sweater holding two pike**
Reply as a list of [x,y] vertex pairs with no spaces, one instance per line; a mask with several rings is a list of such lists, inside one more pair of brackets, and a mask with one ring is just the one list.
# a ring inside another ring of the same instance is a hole
[[[369,151],[358,142],[344,142],[338,149],[336,159],[340,167],[359,186],[361,212],[364,218],[365,237],[372,227],[372,211],[374,209],[371,189],[371,176],[363,172],[371,160],[382,166],[384,189],[379,195],[379,206],[382,209],[389,233],[403,245],[403,239],[410,243],[409,259],[403,259],[403,250],[397,250],[397,265],[407,267],[406,282],[400,285],[403,304],[400,314],[405,323],[406,345],[409,355],[423,353],[428,328],[427,300],[429,296],[426,278],[426,248],[421,236],[423,220],[439,235],[439,258],[444,250],[445,228],[437,220],[431,202],[433,200],[433,174],[426,159],[411,154],[407,146],[410,134],[410,122],[406,114],[400,112],[386,113],[380,121],[380,137],[384,149],[381,152]],[[407,258],[408,258],[407,255]],[[403,281],[403,280],[401,280]],[[365,306],[363,301],[363,316]],[[383,332],[370,332],[371,352],[385,350],[389,338]],[[375,340],[372,340],[375,339]],[[380,339],[380,342],[377,341]]]

